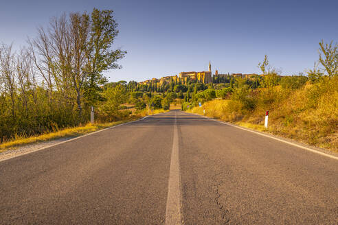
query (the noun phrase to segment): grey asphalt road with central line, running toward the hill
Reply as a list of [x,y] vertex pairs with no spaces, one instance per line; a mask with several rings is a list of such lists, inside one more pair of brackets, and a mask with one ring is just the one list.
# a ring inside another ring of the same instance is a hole
[[0,161],[0,224],[338,224],[338,160],[174,110]]

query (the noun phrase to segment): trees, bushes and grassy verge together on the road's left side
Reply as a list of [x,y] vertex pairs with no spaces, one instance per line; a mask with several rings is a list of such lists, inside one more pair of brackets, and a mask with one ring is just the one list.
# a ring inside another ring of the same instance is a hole
[[168,110],[163,98],[135,93],[137,82],[107,82],[103,73],[126,54],[114,49],[118,33],[113,11],[94,8],[52,18],[19,50],[0,43],[0,151]]

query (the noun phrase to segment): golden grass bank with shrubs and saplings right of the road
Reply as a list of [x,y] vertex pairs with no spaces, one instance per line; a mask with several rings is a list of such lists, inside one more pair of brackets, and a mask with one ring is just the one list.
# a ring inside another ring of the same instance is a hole
[[[226,97],[215,99],[214,91],[203,91],[192,97],[194,102],[183,104],[184,109],[200,115],[205,110],[208,117],[338,152],[338,45],[321,42],[319,47],[319,63],[306,76],[281,77],[265,56],[258,64],[264,74],[258,88],[238,79]],[[264,128],[266,110],[268,129]]]

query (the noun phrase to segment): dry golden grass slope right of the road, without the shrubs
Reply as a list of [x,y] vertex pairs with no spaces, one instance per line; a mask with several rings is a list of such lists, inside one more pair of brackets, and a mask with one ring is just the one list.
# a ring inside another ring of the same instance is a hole
[[[338,152],[338,78],[306,84],[297,90],[275,87],[273,102],[267,95],[256,97],[254,110],[232,99],[214,99],[188,112],[205,115],[239,126],[271,132],[309,145]],[[264,90],[262,90],[264,91]],[[264,112],[269,110],[269,129],[264,129]]]

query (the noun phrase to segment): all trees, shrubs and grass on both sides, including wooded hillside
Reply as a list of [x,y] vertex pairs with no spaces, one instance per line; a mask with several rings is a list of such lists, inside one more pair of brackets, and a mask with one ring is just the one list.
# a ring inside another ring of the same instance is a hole
[[[338,47],[319,43],[304,74],[280,76],[267,56],[261,75],[108,82],[126,51],[114,48],[113,11],[70,13],[39,27],[27,46],[0,44],[0,151],[22,143],[74,137],[181,108],[338,151]],[[199,107],[199,103],[203,106]],[[95,123],[89,124],[91,106]]]

